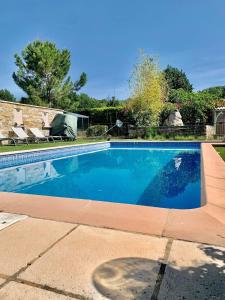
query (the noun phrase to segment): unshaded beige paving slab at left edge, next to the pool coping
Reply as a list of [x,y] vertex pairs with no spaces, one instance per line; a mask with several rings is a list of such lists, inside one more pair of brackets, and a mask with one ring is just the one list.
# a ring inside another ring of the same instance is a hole
[[74,227],[27,218],[0,231],[0,272],[13,275]]

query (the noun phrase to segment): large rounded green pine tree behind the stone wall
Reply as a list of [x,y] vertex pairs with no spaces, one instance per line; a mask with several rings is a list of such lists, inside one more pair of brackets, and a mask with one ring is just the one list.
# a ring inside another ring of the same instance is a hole
[[[73,83],[68,76],[70,52],[59,50],[51,42],[34,41],[15,55],[17,72],[13,73],[16,84],[28,95],[28,103],[69,107],[74,92],[87,81],[85,73]],[[23,102],[26,102],[23,99]]]

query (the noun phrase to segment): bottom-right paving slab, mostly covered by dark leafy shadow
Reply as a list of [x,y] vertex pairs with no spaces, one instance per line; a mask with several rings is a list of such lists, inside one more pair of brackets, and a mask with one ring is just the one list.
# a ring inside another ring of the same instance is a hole
[[158,299],[225,299],[225,248],[174,241]]

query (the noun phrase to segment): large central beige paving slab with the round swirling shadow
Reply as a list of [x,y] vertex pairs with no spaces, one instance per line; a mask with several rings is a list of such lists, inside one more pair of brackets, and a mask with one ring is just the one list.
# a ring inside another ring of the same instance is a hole
[[150,299],[166,243],[166,238],[79,226],[20,279],[98,300]]

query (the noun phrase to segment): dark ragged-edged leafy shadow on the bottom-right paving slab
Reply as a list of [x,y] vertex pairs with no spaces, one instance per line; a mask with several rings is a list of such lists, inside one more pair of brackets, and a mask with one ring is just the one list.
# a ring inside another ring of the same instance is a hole
[[190,267],[179,267],[174,261],[166,267],[158,299],[225,299],[225,250],[198,248],[205,259],[191,261]]

